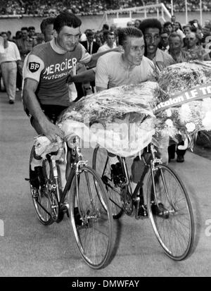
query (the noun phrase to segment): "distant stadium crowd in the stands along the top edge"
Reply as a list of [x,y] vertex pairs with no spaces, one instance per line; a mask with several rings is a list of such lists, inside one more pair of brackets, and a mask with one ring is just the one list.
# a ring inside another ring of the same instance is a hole
[[[161,2],[161,1],[160,1]],[[153,5],[154,1],[142,0],[2,0],[0,8],[1,15],[33,15],[53,16],[65,9],[71,9],[72,13],[79,15],[94,15],[113,9],[132,8],[143,5]],[[171,11],[171,1],[163,0],[162,3]],[[185,11],[184,1],[173,1],[174,12]],[[188,11],[199,9],[199,0],[188,0]],[[209,0],[203,0],[203,11],[211,11]],[[156,8],[150,8],[148,13],[155,13]]]

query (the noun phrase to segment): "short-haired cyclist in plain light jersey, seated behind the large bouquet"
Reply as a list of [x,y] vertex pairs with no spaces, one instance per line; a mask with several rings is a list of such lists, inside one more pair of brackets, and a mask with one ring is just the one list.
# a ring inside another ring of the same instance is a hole
[[[118,30],[119,44],[123,52],[113,52],[101,56],[96,66],[96,89],[102,91],[120,85],[139,84],[153,79],[153,63],[143,56],[144,40],[141,30],[135,27],[125,27]],[[122,171],[117,157],[108,153],[111,164],[111,176],[116,185],[122,180]],[[134,159],[132,165],[132,189],[139,181],[139,161]],[[143,196],[140,197],[139,216],[147,216]]]

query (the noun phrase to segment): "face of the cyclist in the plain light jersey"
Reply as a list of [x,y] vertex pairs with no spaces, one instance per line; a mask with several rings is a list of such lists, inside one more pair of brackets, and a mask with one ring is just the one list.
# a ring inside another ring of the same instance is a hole
[[143,37],[127,37],[127,44],[124,47],[124,56],[127,61],[139,66],[143,58],[144,47]]

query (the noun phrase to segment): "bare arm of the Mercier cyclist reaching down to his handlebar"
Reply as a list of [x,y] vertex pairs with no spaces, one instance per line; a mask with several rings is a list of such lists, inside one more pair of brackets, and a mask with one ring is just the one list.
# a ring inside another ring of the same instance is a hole
[[41,110],[39,101],[36,97],[36,90],[38,87],[38,82],[36,80],[27,78],[25,79],[25,84],[23,87],[23,104],[25,108],[30,111],[30,114],[35,120],[34,128],[39,134],[45,135],[55,142],[57,136],[63,138],[63,131],[58,128],[57,125],[51,123],[51,121],[46,117],[46,115]]

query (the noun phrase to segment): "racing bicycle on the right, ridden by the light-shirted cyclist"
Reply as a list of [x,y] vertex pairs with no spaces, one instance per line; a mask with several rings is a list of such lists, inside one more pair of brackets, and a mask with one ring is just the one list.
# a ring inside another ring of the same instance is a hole
[[128,216],[135,213],[135,218],[140,218],[140,194],[143,191],[143,181],[146,181],[148,216],[158,242],[167,256],[181,261],[191,254],[193,248],[194,221],[191,202],[177,173],[162,164],[162,160],[155,156],[155,151],[153,144],[143,150],[141,158],[145,167],[134,192],[124,157],[117,156],[124,175],[118,185],[114,184],[108,151],[103,147],[97,146],[94,149],[93,168],[106,187],[112,203],[113,218],[116,219],[122,213]]

